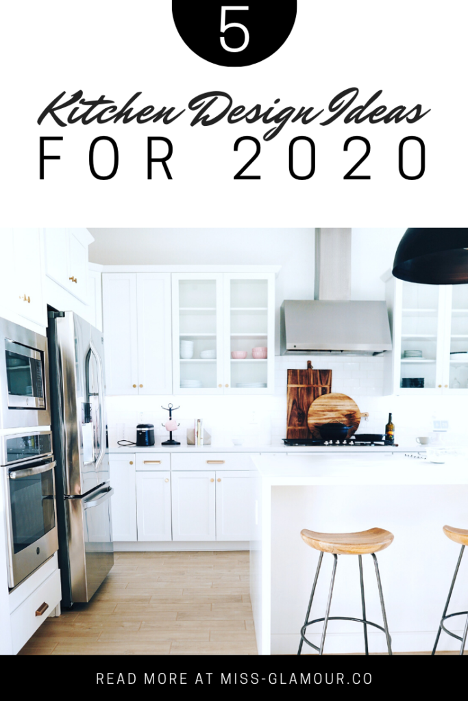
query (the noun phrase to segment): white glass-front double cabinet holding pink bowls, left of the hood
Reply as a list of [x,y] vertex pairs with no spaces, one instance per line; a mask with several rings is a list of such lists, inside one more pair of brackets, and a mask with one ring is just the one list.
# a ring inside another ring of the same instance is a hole
[[175,394],[274,388],[274,273],[176,273]]

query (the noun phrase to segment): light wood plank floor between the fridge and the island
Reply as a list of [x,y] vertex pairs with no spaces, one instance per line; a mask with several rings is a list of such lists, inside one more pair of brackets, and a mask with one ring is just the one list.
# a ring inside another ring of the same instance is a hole
[[119,552],[89,604],[20,655],[256,655],[248,552]]

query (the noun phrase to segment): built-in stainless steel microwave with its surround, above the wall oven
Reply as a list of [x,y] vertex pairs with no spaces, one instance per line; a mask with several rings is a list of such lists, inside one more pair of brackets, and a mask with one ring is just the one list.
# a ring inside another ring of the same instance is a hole
[[46,336],[0,319],[0,428],[50,424]]

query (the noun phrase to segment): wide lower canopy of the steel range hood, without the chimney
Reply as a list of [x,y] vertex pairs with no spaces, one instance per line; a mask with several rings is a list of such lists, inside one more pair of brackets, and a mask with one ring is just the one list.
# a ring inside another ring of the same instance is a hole
[[281,355],[375,355],[391,350],[384,301],[286,299],[281,305]]

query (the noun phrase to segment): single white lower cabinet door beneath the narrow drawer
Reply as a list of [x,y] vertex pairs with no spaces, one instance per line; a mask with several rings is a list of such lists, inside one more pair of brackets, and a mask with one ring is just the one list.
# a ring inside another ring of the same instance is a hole
[[171,472],[136,473],[138,540],[172,540]]

